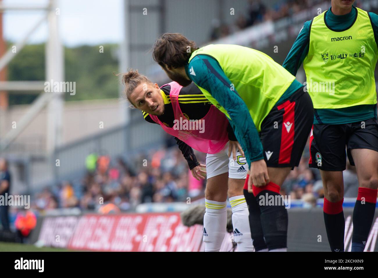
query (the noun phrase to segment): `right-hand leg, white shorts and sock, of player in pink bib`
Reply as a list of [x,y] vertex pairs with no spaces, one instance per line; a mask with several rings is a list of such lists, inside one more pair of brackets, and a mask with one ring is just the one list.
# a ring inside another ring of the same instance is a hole
[[228,199],[232,208],[232,227],[238,252],[254,251],[249,227],[248,205],[243,194],[247,171],[246,158],[239,151],[236,152],[236,160],[232,156],[229,158]]

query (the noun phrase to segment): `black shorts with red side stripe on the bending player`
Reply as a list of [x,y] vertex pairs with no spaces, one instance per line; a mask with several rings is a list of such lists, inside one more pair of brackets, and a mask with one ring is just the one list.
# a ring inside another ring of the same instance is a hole
[[261,124],[260,140],[268,167],[299,165],[314,120],[311,97],[303,88],[277,103]]

